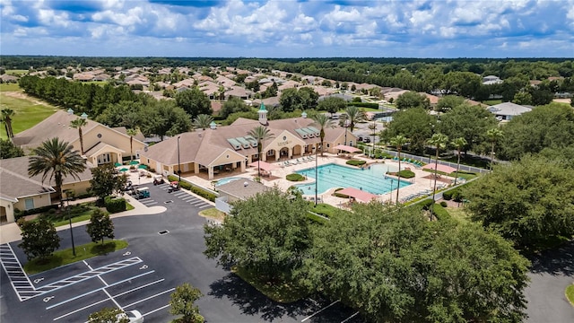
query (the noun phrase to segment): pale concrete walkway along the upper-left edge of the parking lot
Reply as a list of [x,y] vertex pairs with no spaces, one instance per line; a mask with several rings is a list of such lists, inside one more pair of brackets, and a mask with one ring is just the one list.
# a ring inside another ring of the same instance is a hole
[[[110,218],[115,219],[117,217],[129,216],[129,215],[161,214],[161,213],[165,212],[165,210],[166,210],[165,206],[150,206],[150,207],[145,206],[132,196],[126,195],[123,197],[126,198],[127,203],[134,206],[134,209],[129,210],[129,211],[120,212],[117,214],[109,214]],[[70,204],[73,204],[73,205],[74,204],[80,204],[80,203],[84,203],[84,202],[90,202],[93,200],[95,200],[95,198],[93,198],[93,197],[92,198],[86,198],[86,199],[82,199],[82,200],[75,200],[75,201],[71,202]],[[72,223],[72,227],[75,228],[78,226],[86,225],[88,223],[90,223],[90,220],[86,220],[86,221],[82,221],[82,222],[78,222],[78,223]],[[67,230],[67,229],[70,229],[69,225],[60,225],[56,228],[57,231],[62,231],[62,230]],[[0,244],[18,241],[18,240],[22,240],[22,231],[20,230],[20,227],[18,226],[17,223],[7,223],[7,224],[0,225]]]

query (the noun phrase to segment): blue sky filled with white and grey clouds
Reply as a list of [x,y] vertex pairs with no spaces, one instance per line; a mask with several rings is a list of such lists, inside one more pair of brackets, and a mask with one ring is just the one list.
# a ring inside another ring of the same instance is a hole
[[0,0],[0,54],[574,57],[574,0]]

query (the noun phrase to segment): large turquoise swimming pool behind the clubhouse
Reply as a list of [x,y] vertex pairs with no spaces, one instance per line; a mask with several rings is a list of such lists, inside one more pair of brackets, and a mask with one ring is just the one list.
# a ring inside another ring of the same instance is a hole
[[[369,168],[358,169],[334,163],[321,165],[317,168],[318,182],[317,194],[323,194],[330,188],[357,188],[366,192],[380,195],[396,189],[396,179],[386,177],[389,171],[398,170],[397,166],[376,163]],[[297,173],[315,179],[315,168],[298,170]],[[392,186],[391,186],[392,185]],[[401,188],[411,185],[401,180]],[[315,183],[300,184],[296,186],[303,194],[315,194]]]

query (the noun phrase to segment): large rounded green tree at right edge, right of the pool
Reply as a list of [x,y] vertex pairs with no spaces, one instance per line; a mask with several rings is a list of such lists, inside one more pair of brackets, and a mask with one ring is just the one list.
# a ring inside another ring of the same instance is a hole
[[500,166],[463,191],[474,221],[535,249],[574,234],[574,169],[560,154],[525,156]]

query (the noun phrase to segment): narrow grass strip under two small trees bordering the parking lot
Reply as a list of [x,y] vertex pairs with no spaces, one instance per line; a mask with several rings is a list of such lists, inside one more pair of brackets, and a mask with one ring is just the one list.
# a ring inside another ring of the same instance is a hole
[[106,255],[119,249],[125,249],[127,242],[124,240],[104,240],[104,244],[90,242],[75,247],[75,257],[72,249],[55,251],[51,257],[46,259],[33,259],[24,265],[24,271],[28,275],[38,274],[43,271],[65,266],[76,261],[93,258],[96,256]]

